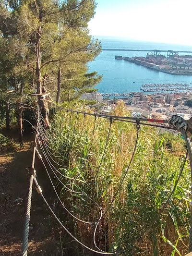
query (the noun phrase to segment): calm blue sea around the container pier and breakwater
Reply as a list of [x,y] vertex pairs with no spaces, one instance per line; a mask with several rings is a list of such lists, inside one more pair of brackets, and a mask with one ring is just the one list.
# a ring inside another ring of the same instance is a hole
[[[192,46],[170,45],[152,42],[136,42],[110,37],[98,37],[103,49],[159,49],[175,51],[192,51]],[[151,52],[149,52],[151,53]],[[161,52],[167,56],[167,52]],[[123,57],[146,56],[142,51],[106,51],[103,50],[95,61],[89,62],[89,72],[96,71],[103,75],[103,80],[96,85],[100,93],[128,93],[138,92],[142,84],[165,84],[192,82],[192,76],[172,75],[136,65],[129,61],[115,60],[115,55]],[[192,53],[180,53],[192,55]],[[134,83],[133,83],[134,82]]]

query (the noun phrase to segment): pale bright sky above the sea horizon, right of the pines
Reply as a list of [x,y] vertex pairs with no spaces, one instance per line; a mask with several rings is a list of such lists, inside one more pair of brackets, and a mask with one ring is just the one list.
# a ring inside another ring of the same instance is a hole
[[96,0],[93,36],[192,45],[192,0]]

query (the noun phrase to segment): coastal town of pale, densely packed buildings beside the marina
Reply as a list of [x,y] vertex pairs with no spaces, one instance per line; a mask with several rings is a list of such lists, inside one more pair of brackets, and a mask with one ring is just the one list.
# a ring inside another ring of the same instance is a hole
[[[123,98],[123,101],[127,110],[131,112],[132,117],[168,120],[173,114],[178,114],[188,120],[192,116],[192,108],[184,105],[187,100],[192,99],[191,91],[156,94],[131,92],[127,96],[123,96],[126,97]],[[102,113],[111,113],[115,109],[116,100],[115,98],[107,99],[106,105],[108,106],[103,108]],[[166,128],[165,131],[170,132]],[[174,131],[171,132],[174,133]],[[175,133],[177,134],[178,132],[176,131]]]

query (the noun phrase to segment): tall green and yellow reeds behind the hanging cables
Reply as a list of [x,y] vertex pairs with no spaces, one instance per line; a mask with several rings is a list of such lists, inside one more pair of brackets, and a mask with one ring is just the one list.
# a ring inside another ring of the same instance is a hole
[[[75,110],[90,111],[77,107]],[[187,254],[191,210],[188,161],[169,198],[186,153],[181,136],[159,134],[157,129],[141,125],[127,170],[136,141],[135,124],[113,120],[110,126],[108,119],[59,108],[54,111],[48,150],[60,164],[60,197],[74,216],[85,221],[97,222],[100,214],[89,197],[102,208],[96,245],[104,251],[116,249],[120,255]],[[113,115],[129,115],[122,101]],[[95,225],[69,219],[76,236],[95,248]]]

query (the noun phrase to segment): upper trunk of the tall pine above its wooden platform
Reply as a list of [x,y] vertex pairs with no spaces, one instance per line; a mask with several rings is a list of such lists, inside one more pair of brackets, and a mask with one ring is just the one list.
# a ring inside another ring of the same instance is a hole
[[41,79],[41,27],[39,26],[36,33],[36,86],[37,93],[42,93],[42,79]]

